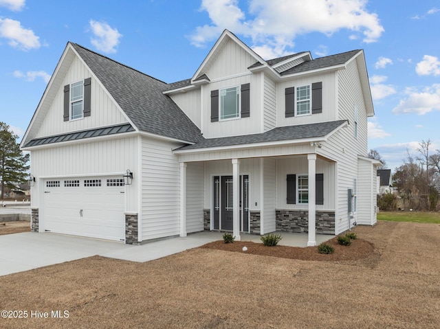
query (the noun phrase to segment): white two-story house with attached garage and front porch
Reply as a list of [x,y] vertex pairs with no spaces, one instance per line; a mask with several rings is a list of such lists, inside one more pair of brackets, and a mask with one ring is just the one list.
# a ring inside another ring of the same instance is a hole
[[32,230],[129,244],[281,230],[316,245],[376,222],[373,115],[362,50],[266,61],[225,30],[192,78],[166,84],[67,43],[21,142]]

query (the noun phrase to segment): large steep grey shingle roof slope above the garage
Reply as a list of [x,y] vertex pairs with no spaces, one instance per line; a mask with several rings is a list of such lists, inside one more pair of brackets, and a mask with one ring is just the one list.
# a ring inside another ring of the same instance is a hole
[[199,128],[162,93],[168,84],[71,44],[140,131],[190,142],[203,139]]

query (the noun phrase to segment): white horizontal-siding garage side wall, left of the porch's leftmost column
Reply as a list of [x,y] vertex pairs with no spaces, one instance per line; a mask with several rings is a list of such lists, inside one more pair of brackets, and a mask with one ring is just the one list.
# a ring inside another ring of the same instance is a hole
[[142,137],[142,240],[179,235],[179,146]]

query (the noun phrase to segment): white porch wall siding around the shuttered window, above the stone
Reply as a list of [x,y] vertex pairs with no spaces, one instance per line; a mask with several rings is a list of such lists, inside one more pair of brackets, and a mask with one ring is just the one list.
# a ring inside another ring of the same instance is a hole
[[[278,159],[277,164],[277,209],[303,209],[308,210],[307,204],[287,204],[287,174],[309,174],[309,161],[307,157],[294,157],[290,159]],[[322,159],[316,160],[316,173],[324,174],[324,204],[316,205],[317,210],[336,209],[335,198],[335,174],[336,166],[333,162],[327,162]]]

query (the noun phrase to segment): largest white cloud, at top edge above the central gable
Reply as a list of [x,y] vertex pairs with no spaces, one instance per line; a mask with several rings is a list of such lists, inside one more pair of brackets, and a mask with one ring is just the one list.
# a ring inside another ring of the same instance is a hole
[[[363,34],[365,43],[377,41],[384,32],[377,14],[366,8],[366,0],[250,0],[248,8],[240,8],[237,0],[203,0],[201,11],[208,12],[211,23],[196,28],[190,41],[203,47],[228,29],[252,38],[253,49],[273,48],[276,55],[285,54],[301,34],[320,32],[330,36],[339,30]],[[244,10],[247,9],[248,12]]]

